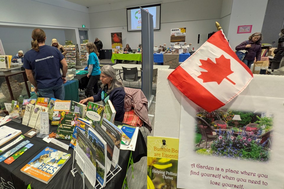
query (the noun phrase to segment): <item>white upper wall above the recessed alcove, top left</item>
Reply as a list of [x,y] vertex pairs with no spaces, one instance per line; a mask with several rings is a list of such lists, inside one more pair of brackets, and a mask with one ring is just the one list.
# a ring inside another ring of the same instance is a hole
[[85,24],[89,27],[88,9],[64,0],[1,0],[0,11],[1,22],[73,28]]

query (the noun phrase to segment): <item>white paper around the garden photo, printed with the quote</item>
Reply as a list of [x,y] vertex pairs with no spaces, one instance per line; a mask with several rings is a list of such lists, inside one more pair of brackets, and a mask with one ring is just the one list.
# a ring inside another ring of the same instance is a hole
[[[259,88],[259,85],[257,87]],[[268,87],[265,90],[274,90],[276,92],[279,88],[273,89]],[[254,93],[249,89],[247,91]],[[260,91],[262,91],[261,88],[257,92],[259,93]],[[283,98],[248,96],[245,92],[241,94],[224,108],[266,112],[266,114],[273,113],[274,115],[269,160],[267,162],[259,162],[196,154],[194,151],[195,109],[190,106],[189,103],[191,101],[183,96],[180,114],[180,131],[182,132],[180,132],[179,143],[177,188],[236,188],[234,185],[240,189],[283,188],[284,165],[280,163],[283,160],[284,153],[282,145],[284,134],[282,119],[284,111]],[[200,165],[204,167],[200,168]],[[206,166],[212,167],[213,170]],[[208,176],[210,174],[218,175],[218,177]],[[279,182],[280,180],[281,182]],[[188,183],[191,184],[189,185]]]

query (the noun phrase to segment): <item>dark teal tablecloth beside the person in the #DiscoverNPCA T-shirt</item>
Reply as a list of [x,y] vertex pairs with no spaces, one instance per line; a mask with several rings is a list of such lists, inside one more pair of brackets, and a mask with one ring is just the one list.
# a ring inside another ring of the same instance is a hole
[[[71,81],[67,81],[64,83],[64,90],[65,90],[65,98],[64,100],[73,100],[75,102],[79,102],[79,81],[78,79],[72,79]],[[38,96],[35,92],[30,94],[30,99],[37,98]]]

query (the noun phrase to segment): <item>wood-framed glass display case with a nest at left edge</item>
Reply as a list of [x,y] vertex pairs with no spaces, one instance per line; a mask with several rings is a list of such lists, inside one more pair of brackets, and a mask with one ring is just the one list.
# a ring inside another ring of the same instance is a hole
[[22,66],[14,66],[11,69],[0,69],[0,107],[5,109],[4,103],[30,98],[28,79]]

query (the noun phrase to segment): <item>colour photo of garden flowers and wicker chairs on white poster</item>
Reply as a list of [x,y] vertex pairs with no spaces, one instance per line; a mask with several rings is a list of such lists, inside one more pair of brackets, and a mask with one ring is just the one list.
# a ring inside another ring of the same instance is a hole
[[197,109],[196,154],[250,161],[270,159],[273,114],[266,112]]

